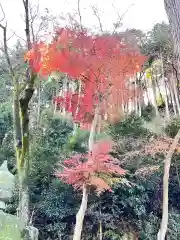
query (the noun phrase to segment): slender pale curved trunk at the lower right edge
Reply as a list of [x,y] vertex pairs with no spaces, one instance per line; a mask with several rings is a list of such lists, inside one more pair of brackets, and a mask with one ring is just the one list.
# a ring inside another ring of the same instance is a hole
[[179,142],[180,130],[175,136],[173,143],[169,149],[169,152],[164,161],[164,177],[163,177],[163,209],[162,209],[162,220],[161,226],[157,235],[157,240],[165,240],[167,226],[168,226],[168,201],[169,201],[169,170],[171,166],[171,159],[176,146]]

